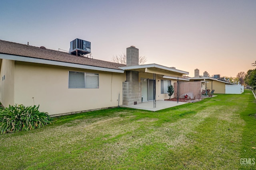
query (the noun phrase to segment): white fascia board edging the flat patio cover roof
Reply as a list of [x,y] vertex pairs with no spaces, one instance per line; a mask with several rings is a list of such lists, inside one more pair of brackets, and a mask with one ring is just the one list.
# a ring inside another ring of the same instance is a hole
[[124,67],[119,67],[119,68],[121,68],[123,70],[131,70],[131,69],[152,68],[152,67],[156,67],[156,68],[160,68],[160,69],[168,70],[168,71],[173,71],[173,72],[178,72],[178,73],[181,73],[181,74],[189,74],[189,72],[182,71],[182,70],[176,70],[176,69],[169,68],[169,67],[166,67],[166,66],[162,66],[162,65],[159,65],[159,64],[144,64],[144,65],[136,65],[136,66],[124,66]]

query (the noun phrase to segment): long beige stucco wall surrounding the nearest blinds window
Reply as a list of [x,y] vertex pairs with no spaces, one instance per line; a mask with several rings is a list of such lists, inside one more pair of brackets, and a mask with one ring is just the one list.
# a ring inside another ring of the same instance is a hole
[[[69,71],[99,74],[99,88],[68,88]],[[112,81],[111,81],[112,79]],[[50,115],[122,105],[125,74],[34,63],[15,63],[15,103],[40,104]],[[112,83],[111,83],[112,82]]]

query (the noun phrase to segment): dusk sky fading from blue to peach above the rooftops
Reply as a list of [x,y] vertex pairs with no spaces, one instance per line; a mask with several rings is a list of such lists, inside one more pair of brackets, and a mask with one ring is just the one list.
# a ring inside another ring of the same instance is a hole
[[202,75],[255,67],[256,0],[2,0],[0,39],[47,49],[90,41],[111,61],[131,45],[156,63]]

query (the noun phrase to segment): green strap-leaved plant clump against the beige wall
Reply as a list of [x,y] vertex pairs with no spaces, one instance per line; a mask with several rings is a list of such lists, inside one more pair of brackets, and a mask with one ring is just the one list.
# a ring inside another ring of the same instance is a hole
[[0,108],[0,133],[28,131],[52,123],[48,113],[38,111],[38,107],[16,104]]

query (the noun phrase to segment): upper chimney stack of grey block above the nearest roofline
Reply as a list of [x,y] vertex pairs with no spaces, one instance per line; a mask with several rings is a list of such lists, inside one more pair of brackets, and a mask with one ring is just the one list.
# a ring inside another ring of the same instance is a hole
[[126,66],[139,65],[139,49],[135,46],[126,48]]

